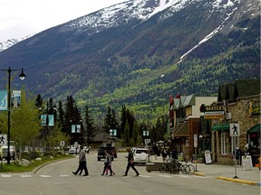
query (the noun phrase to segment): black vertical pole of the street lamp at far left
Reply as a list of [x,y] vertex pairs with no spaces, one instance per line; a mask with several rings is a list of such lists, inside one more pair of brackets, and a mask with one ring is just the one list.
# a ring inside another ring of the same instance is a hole
[[11,123],[11,68],[8,68],[8,91],[7,91],[7,164],[10,164],[10,123]]

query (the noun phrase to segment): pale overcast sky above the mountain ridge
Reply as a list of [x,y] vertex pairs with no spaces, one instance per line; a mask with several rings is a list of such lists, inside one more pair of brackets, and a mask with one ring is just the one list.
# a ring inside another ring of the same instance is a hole
[[24,38],[127,0],[0,0],[0,42]]

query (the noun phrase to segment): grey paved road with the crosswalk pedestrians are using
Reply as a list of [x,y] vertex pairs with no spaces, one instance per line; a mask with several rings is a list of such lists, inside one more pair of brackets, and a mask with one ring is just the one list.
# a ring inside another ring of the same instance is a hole
[[140,176],[130,170],[122,177],[127,165],[126,153],[118,153],[112,164],[114,176],[101,176],[103,162],[97,162],[95,151],[87,154],[88,177],[74,176],[78,159],[64,160],[43,166],[37,172],[1,173],[0,194],[5,195],[259,195],[260,187],[220,181],[211,177],[146,172],[145,166],[137,166]]

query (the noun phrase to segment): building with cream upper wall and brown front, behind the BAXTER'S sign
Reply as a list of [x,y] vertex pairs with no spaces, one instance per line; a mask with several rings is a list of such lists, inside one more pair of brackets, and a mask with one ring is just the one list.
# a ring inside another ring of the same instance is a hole
[[174,148],[186,160],[209,150],[211,134],[208,120],[200,112],[202,104],[212,104],[218,97],[176,96],[169,97],[170,151]]

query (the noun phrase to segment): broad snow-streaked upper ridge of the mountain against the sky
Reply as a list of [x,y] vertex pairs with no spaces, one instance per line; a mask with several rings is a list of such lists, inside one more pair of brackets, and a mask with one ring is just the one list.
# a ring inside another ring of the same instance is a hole
[[92,14],[82,16],[65,23],[61,32],[101,32],[105,29],[128,23],[132,19],[148,20],[151,16],[171,7],[179,11],[187,3],[195,0],[131,0],[117,5],[111,5]]

